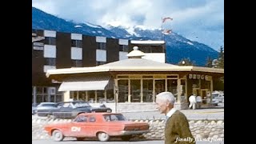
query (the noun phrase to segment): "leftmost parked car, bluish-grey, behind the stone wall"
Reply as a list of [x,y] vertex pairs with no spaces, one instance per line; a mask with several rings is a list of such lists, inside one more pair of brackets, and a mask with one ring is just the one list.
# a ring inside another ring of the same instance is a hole
[[48,115],[52,115],[55,110],[58,110],[55,102],[41,102],[36,107],[36,113],[39,117],[46,117]]

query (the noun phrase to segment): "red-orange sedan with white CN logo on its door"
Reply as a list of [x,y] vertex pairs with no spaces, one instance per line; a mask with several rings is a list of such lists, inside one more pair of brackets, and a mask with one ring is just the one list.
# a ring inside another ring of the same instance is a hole
[[129,141],[134,135],[146,134],[149,130],[146,122],[131,122],[120,113],[86,113],[79,114],[73,122],[48,124],[44,130],[54,139],[62,141],[65,137],[77,140],[98,138],[106,142],[110,137],[119,137]]

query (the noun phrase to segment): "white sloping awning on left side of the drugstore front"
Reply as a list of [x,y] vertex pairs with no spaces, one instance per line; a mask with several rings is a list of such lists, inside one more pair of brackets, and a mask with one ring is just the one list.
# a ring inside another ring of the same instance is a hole
[[70,78],[62,82],[58,91],[105,90],[114,86],[110,76],[94,76],[88,78]]

